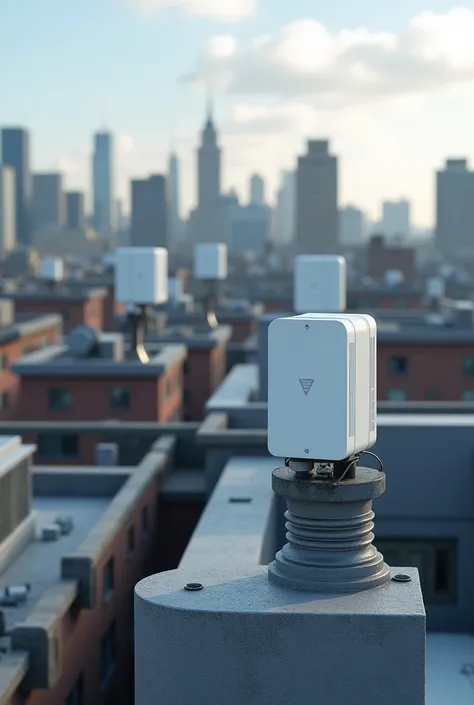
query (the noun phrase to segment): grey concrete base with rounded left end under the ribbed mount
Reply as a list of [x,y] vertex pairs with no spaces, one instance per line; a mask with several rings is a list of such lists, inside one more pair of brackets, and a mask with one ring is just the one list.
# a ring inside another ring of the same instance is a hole
[[411,582],[351,595],[279,587],[265,566],[150,576],[135,591],[135,703],[424,705],[418,572],[400,572]]

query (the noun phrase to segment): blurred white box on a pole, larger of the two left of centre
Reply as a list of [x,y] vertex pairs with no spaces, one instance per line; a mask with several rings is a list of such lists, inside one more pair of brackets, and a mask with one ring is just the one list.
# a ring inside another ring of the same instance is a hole
[[168,300],[168,252],[163,247],[117,250],[115,298],[124,304],[162,304]]

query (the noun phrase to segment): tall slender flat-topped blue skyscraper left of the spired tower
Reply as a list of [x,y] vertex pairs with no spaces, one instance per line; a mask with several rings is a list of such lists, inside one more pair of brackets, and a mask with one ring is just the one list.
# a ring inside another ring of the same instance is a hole
[[94,135],[92,190],[94,228],[104,238],[115,232],[114,143],[110,132]]

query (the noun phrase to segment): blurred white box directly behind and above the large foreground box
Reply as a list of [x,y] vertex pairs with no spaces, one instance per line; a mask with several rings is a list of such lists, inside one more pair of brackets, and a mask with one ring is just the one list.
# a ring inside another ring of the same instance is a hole
[[295,257],[294,305],[297,313],[337,313],[346,308],[346,260],[338,255]]

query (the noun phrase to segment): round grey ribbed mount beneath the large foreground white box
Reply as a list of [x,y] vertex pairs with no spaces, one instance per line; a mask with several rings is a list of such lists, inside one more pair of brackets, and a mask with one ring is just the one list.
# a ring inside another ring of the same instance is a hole
[[385,491],[385,474],[357,468],[355,478],[298,478],[287,467],[273,471],[273,490],[285,497],[288,543],[268,567],[271,582],[294,590],[352,593],[390,580],[390,569],[372,544],[372,500]]

